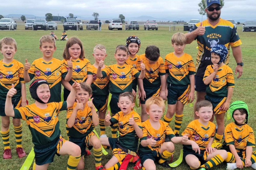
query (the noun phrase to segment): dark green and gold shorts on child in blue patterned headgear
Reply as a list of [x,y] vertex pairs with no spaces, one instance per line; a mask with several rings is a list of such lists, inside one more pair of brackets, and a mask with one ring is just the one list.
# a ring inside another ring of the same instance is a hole
[[223,106],[223,104],[226,102],[227,97],[205,95],[205,100],[208,100],[211,102],[214,114],[226,113],[225,110],[220,110],[220,109]]

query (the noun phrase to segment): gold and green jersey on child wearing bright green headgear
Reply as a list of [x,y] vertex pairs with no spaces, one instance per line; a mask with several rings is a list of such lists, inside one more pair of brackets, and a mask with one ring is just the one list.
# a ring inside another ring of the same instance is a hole
[[252,128],[246,124],[238,127],[234,122],[225,127],[224,147],[234,145],[237,152],[245,152],[247,146],[255,147]]

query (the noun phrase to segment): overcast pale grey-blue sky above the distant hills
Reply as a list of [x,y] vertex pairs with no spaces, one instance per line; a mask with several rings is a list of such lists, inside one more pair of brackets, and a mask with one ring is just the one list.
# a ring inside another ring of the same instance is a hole
[[[126,18],[142,15],[155,18],[168,18],[170,20],[198,18],[198,3],[200,0],[1,0],[0,14],[31,14],[45,16],[67,16],[73,13],[75,16],[92,17],[93,12],[99,13],[100,18],[118,18],[123,14]],[[255,0],[225,0],[221,10],[223,19],[256,20]],[[93,19],[93,17],[92,17]],[[205,19],[205,17],[203,18]]]

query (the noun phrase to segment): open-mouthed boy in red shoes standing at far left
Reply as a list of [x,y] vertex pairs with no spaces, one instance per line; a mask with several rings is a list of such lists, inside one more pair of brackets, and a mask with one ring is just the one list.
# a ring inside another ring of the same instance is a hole
[[[0,52],[3,59],[0,60],[0,115],[1,115],[1,136],[4,143],[4,159],[11,159],[11,149],[9,141],[10,117],[5,114],[5,100],[7,92],[14,84],[17,94],[13,96],[11,108],[26,106],[26,86],[23,78],[24,67],[19,61],[13,59],[17,51],[16,41],[11,37],[0,40]],[[14,135],[16,138],[16,152],[19,158],[26,156],[22,148],[22,123],[20,119],[12,119]]]

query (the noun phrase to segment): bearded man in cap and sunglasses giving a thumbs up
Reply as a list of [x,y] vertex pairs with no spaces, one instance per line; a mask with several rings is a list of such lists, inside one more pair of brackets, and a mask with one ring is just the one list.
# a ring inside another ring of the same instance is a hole
[[[242,75],[243,62],[242,51],[240,45],[242,44],[236,29],[229,21],[220,18],[221,5],[220,0],[206,0],[207,19],[197,23],[193,28],[186,33],[187,44],[197,40],[198,52],[196,59],[196,75],[195,75],[195,90],[196,102],[194,104],[194,119],[198,119],[195,115],[196,103],[205,99],[206,86],[203,82],[203,76],[206,67],[211,63],[211,47],[216,44],[225,45],[228,49],[232,48],[233,56],[237,62],[235,74],[239,72],[237,78]],[[229,63],[229,53],[227,55],[226,64]]]

